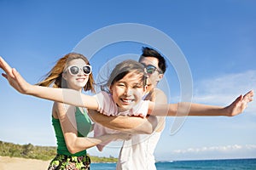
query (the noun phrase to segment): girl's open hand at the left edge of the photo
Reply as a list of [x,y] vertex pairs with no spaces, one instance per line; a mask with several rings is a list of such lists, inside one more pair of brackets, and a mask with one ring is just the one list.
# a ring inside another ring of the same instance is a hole
[[0,67],[5,71],[5,73],[2,73],[2,76],[8,80],[9,84],[20,92],[20,94],[27,94],[28,89],[32,85],[26,82],[24,78],[20,76],[19,72],[11,68],[2,57],[0,57]]

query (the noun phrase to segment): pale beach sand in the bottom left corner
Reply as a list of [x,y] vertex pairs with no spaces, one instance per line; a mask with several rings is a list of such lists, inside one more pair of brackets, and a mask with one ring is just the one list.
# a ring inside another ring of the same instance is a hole
[[46,170],[49,161],[0,156],[1,170]]

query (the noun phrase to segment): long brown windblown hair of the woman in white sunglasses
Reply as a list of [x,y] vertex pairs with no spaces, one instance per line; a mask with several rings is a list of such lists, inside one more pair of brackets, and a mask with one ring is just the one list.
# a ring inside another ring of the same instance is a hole
[[[52,84],[53,88],[67,88],[67,82],[62,78],[62,73],[66,69],[66,65],[73,59],[83,59],[87,65],[90,65],[88,59],[83,54],[69,53],[59,59],[55,66],[46,74],[46,78],[42,82],[38,82],[37,85],[49,87]],[[84,91],[95,92],[94,79],[92,73],[89,75],[88,82],[84,86]]]

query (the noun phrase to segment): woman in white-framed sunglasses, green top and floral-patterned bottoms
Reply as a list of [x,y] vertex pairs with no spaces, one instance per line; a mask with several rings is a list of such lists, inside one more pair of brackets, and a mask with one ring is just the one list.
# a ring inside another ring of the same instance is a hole
[[[94,92],[91,66],[82,54],[70,53],[59,59],[39,86],[70,88],[81,93]],[[37,86],[37,87],[39,87]],[[90,169],[90,157],[86,150],[111,139],[126,139],[127,134],[105,134],[96,138],[86,137],[92,125],[87,111],[81,107],[54,102],[52,124],[57,139],[57,155],[49,164],[54,169]]]

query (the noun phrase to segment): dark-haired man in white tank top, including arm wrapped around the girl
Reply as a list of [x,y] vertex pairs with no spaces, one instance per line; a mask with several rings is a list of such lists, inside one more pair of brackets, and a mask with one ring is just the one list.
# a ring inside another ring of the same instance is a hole
[[[147,94],[144,99],[157,104],[166,104],[166,95],[157,87],[166,71],[166,60],[153,48],[143,48],[139,62],[148,73]],[[164,97],[163,97],[164,96]],[[148,116],[148,119],[132,116],[103,116],[96,111],[89,111],[94,122],[123,132],[134,134],[125,141],[119,153],[117,170],[155,170],[154,149],[165,127],[163,116]]]

